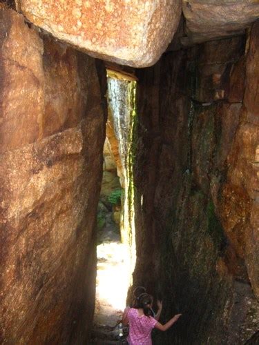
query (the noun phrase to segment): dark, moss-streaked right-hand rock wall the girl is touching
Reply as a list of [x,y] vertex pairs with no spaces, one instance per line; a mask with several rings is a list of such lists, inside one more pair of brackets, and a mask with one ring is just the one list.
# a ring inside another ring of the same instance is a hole
[[162,321],[182,313],[155,344],[244,344],[258,328],[258,30],[137,73],[133,280]]

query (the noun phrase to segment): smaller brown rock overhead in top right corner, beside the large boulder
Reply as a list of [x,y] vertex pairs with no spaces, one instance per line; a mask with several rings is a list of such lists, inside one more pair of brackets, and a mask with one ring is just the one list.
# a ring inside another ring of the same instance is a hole
[[182,10],[190,43],[244,33],[259,17],[257,0],[182,0]]

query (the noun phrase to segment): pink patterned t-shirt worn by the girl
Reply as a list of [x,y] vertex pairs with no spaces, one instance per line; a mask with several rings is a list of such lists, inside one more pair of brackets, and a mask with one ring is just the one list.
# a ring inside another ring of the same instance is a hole
[[139,316],[137,309],[128,309],[129,335],[128,344],[130,345],[152,345],[151,331],[157,324],[157,320],[146,315]]

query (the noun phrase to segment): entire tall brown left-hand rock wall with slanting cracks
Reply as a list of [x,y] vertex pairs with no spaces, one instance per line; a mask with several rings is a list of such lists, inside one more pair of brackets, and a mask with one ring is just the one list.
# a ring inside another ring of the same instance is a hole
[[104,113],[95,61],[0,10],[1,344],[82,344]]

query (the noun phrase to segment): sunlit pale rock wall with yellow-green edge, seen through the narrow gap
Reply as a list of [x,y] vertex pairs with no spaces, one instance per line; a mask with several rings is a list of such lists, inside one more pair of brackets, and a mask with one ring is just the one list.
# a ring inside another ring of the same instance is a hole
[[126,286],[132,284],[132,272],[135,267],[135,193],[133,184],[133,128],[135,128],[136,123],[135,92],[135,81],[108,77],[108,105],[111,111],[109,116],[113,119],[113,128],[119,144],[119,157],[122,165],[120,183],[123,191],[120,234],[122,243],[128,251],[128,259],[124,261],[124,270],[128,275],[128,285]]

